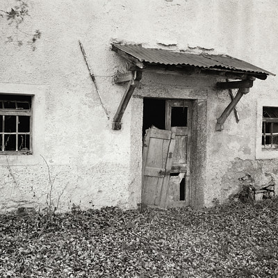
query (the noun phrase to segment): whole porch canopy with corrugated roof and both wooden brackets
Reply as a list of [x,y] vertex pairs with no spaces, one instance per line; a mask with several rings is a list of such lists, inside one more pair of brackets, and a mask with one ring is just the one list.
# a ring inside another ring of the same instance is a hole
[[115,83],[129,81],[126,92],[117,109],[113,120],[113,129],[121,129],[122,115],[129,103],[134,89],[139,85],[142,72],[153,70],[155,72],[174,72],[179,74],[204,74],[220,79],[237,79],[240,81],[218,82],[218,90],[238,88],[236,97],[218,118],[217,130],[223,129],[224,121],[235,108],[240,98],[249,92],[253,81],[265,80],[272,72],[263,70],[243,60],[227,55],[190,54],[186,52],[170,51],[165,49],[145,48],[137,44],[112,44],[112,50],[129,62],[129,71],[118,73]]

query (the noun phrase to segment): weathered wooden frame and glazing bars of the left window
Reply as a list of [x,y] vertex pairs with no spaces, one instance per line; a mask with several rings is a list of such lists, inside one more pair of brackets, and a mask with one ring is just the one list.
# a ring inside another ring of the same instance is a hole
[[[9,134],[9,135],[15,135],[15,138],[16,138],[16,142],[15,142],[15,147],[17,149],[18,147],[18,136],[20,134],[28,134],[29,135],[29,149],[28,151],[24,150],[24,151],[19,151],[19,150],[15,150],[15,151],[1,151],[0,150],[0,156],[3,155],[3,154],[25,154],[25,155],[28,155],[28,154],[33,154],[33,105],[32,105],[32,102],[33,102],[33,95],[19,95],[19,94],[5,94],[3,92],[0,92],[0,95],[5,95],[5,97],[7,99],[3,99],[3,101],[7,100],[9,101],[10,99],[8,99],[8,96],[10,95],[11,97],[15,98],[15,100],[12,100],[12,102],[14,101],[15,102],[15,106],[17,106],[17,102],[20,102],[20,103],[24,103],[24,102],[29,102],[29,101],[20,101],[18,100],[17,101],[17,96],[20,97],[20,96],[23,96],[23,97],[31,97],[31,101],[30,101],[30,106],[31,108],[30,109],[17,109],[16,108],[3,108],[1,107],[0,108],[0,116],[7,116],[7,115],[11,115],[11,116],[16,116],[16,130],[15,132],[6,132],[4,130],[0,131],[0,134],[3,136],[2,138],[2,142],[0,142],[1,144],[1,147],[3,148],[3,144],[4,144],[4,136],[6,134]],[[0,101],[1,102],[1,101]],[[29,116],[30,117],[30,122],[29,122],[29,131],[28,133],[26,132],[19,132],[18,131],[18,117],[19,116]],[[0,119],[1,120],[1,119]],[[4,120],[4,118],[3,118]],[[4,127],[4,125],[3,125]]]

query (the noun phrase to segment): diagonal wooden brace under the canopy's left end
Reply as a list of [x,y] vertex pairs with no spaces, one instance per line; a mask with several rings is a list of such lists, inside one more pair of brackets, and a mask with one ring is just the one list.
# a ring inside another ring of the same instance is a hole
[[135,88],[138,87],[140,84],[140,79],[142,78],[142,72],[136,72],[136,74],[134,74],[133,76],[135,79],[130,80],[129,83],[127,84],[120,105],[118,106],[117,112],[115,113],[115,116],[113,118],[113,124],[112,124],[113,130],[120,130],[122,128],[122,123],[121,123],[122,116],[124,115],[126,106],[129,104],[129,100],[131,99],[131,96]]

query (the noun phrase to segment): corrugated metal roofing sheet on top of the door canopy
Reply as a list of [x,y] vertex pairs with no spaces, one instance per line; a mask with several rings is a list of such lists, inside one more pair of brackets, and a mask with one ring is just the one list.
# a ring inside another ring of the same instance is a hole
[[[165,49],[145,48],[136,44],[112,44],[113,47],[138,59],[141,63],[157,65],[181,65],[203,67],[206,69],[227,69],[258,74],[272,74],[243,60],[231,56],[211,54],[189,54]],[[115,50],[115,49],[113,49]]]

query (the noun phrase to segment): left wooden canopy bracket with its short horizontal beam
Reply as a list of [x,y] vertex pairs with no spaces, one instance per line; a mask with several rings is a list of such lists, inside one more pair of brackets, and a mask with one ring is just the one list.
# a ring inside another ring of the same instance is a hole
[[113,118],[112,129],[120,130],[122,129],[122,123],[121,123],[122,116],[124,115],[126,106],[129,104],[129,100],[131,99],[131,96],[135,88],[138,87],[140,84],[140,80],[142,79],[142,72],[133,72],[132,74],[130,73],[120,74],[118,77],[116,76],[115,79],[116,78],[117,78],[117,83],[129,81],[126,90],[124,92],[124,95],[122,96],[122,100],[119,104],[119,107],[117,108],[117,112],[115,113],[115,116]]

